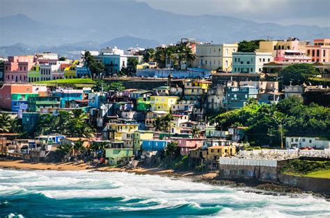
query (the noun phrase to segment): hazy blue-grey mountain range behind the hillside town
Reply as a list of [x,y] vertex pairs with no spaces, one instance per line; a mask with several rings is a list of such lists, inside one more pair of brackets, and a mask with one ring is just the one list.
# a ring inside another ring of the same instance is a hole
[[[181,37],[214,43],[267,37],[286,39],[293,36],[301,40],[330,37],[329,27],[283,26],[227,16],[180,15],[156,10],[137,1],[38,2],[38,10],[30,17],[24,14],[0,17],[0,56],[13,54],[12,51],[22,48],[22,44],[25,49],[68,52],[81,47],[127,49],[136,44],[154,47],[159,43],[175,43]],[[24,4],[29,7],[30,3],[19,1],[19,4],[24,8]]]

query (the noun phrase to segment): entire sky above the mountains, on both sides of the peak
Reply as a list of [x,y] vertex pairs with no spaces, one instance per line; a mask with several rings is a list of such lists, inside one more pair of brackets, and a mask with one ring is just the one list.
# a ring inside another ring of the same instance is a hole
[[[52,8],[56,8],[54,10],[61,15],[61,7],[71,8],[74,3],[73,10],[79,10],[79,2],[93,1],[0,0],[0,17],[22,13],[41,21],[47,19]],[[140,1],[155,9],[184,15],[225,15],[255,22],[330,27],[330,0],[97,0],[97,4],[109,6],[111,1]],[[6,7],[8,3],[10,6]],[[45,3],[51,3],[52,6],[38,11]]]

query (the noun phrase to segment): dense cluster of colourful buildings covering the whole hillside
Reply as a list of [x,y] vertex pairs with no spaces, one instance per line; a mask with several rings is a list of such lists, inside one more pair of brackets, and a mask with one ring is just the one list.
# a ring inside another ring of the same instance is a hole
[[[276,103],[320,89],[308,85],[283,87],[276,76],[272,81],[260,80],[265,67],[285,67],[296,62],[322,63],[317,65],[323,67],[319,68],[321,71],[330,67],[330,40],[314,40],[313,44],[295,38],[264,41],[254,52],[238,52],[237,44],[194,42],[190,46],[196,59],[189,63],[191,67],[181,69],[169,68],[171,63],[162,69],[157,62],[143,63],[145,49],[124,53],[115,47],[91,52],[95,60],[104,63],[104,76],[118,74],[127,67],[127,58],[136,58],[141,63],[136,67],[138,76],[166,78],[161,86],[107,92],[33,83],[90,77],[84,59],[59,60],[56,53],[10,56],[1,68],[4,83],[0,87],[0,108],[22,119],[25,131],[36,126],[41,114],[56,116],[61,110],[83,110],[89,116],[86,121],[97,127],[93,139],[84,139],[86,146],[106,142],[105,156],[111,165],[129,162],[132,157],[152,161],[173,141],[178,143],[182,156],[212,162],[235,155],[237,147],[243,146],[244,126],[218,131],[207,121],[207,115],[242,108],[251,98],[260,103]],[[40,135],[35,140],[10,143],[14,151],[24,147],[29,152],[37,142],[39,148],[54,151],[60,144],[77,140],[65,135]],[[298,141],[292,137],[292,142]],[[287,146],[302,146],[300,141],[292,142],[288,140]],[[329,143],[320,142],[317,146],[329,148]]]

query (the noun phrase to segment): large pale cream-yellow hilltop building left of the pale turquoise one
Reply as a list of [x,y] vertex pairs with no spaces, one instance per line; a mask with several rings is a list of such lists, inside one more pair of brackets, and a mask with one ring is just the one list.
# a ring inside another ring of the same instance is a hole
[[238,44],[197,44],[194,67],[215,70],[219,67],[228,72],[232,69],[233,52]]

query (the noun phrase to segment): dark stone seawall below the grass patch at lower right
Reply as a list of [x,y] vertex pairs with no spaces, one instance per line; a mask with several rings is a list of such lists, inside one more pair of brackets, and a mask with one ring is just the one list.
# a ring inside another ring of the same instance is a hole
[[301,190],[330,194],[329,178],[313,178],[305,176],[290,176],[285,174],[278,174],[278,182],[283,185],[299,187]]

